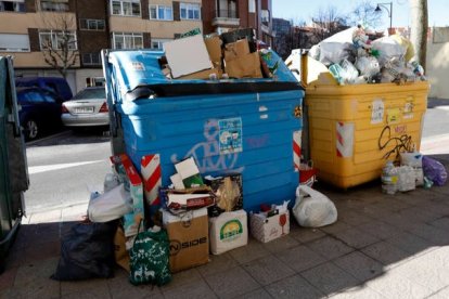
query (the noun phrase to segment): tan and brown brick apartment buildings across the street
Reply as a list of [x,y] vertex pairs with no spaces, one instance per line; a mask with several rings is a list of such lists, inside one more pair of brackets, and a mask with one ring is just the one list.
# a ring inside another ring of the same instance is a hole
[[162,49],[200,28],[203,34],[256,28],[271,44],[271,0],[0,0],[0,55],[14,56],[16,76],[61,76],[46,44],[77,58],[66,72],[74,92],[102,81],[102,49]]

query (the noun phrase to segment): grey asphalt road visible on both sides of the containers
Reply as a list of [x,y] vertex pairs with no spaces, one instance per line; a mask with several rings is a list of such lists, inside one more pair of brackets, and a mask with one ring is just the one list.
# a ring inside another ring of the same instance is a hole
[[[449,141],[449,100],[429,99],[423,140]],[[446,146],[446,145],[444,145]],[[66,131],[27,145],[30,187],[25,194],[27,211],[51,210],[86,204],[90,192],[102,191],[111,171],[111,146],[101,132],[74,134]]]

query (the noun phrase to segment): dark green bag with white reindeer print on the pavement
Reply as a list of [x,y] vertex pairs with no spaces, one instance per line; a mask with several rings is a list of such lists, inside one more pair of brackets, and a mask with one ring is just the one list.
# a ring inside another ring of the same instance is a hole
[[139,233],[129,250],[129,282],[133,285],[168,284],[171,281],[169,253],[169,240],[165,230]]

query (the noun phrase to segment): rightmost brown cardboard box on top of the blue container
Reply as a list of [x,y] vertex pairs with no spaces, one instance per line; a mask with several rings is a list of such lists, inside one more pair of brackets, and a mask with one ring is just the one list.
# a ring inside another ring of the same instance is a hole
[[226,61],[224,63],[224,72],[229,78],[264,78],[258,52],[249,53],[232,61]]

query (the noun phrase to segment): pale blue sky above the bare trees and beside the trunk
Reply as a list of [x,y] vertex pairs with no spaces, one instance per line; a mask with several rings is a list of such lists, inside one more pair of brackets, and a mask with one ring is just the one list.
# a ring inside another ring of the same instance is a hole
[[[310,23],[311,16],[317,12],[325,10],[329,5],[337,9],[337,12],[345,15],[360,3],[361,0],[271,0],[273,17],[293,20],[295,23],[304,21]],[[389,10],[389,3],[393,3],[393,27],[407,27],[411,25],[409,0],[392,1],[370,1],[373,5],[386,3]],[[449,1],[448,0],[427,0],[428,26],[444,27],[449,26]],[[387,10],[384,9],[382,25],[384,28],[389,26]]]

